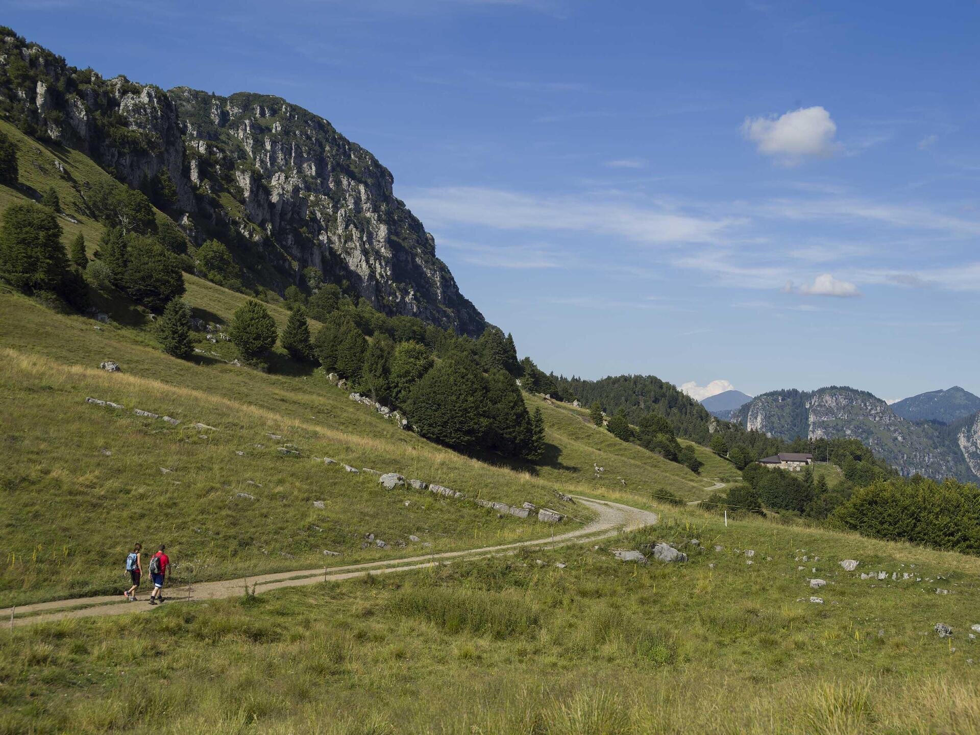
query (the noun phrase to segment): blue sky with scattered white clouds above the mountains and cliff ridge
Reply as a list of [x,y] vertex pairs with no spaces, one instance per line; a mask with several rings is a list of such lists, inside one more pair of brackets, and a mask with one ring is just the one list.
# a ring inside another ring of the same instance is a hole
[[980,5],[0,3],[106,76],[281,95],[546,369],[980,393]]

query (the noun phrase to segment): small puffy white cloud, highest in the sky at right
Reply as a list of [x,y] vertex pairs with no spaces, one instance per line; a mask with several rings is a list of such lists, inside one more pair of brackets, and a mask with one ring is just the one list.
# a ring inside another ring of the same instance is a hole
[[840,150],[834,140],[837,124],[822,107],[794,110],[776,118],[746,118],[742,134],[755,142],[763,156],[787,166],[807,157],[827,157]]

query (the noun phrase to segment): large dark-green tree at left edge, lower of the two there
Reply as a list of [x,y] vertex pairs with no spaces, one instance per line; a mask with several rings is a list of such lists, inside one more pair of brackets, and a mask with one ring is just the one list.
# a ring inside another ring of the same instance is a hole
[[12,204],[0,221],[0,278],[26,291],[56,291],[68,270],[62,228],[36,204]]

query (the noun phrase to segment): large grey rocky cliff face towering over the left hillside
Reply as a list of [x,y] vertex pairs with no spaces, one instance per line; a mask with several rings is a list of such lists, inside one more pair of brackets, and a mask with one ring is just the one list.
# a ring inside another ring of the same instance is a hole
[[368,151],[277,97],[165,92],[77,70],[0,28],[0,110],[77,148],[151,199],[198,244],[218,237],[280,293],[313,267],[379,311],[479,334],[485,322]]

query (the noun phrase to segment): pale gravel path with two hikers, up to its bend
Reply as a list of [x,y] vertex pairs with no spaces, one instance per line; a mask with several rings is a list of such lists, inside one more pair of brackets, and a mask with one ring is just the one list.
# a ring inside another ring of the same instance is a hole
[[[167,602],[171,605],[181,601],[217,600],[224,597],[243,595],[245,587],[251,589],[255,585],[256,592],[266,592],[280,587],[298,587],[316,584],[322,581],[336,581],[363,576],[364,574],[387,574],[407,569],[421,569],[435,564],[446,564],[456,559],[479,559],[502,554],[513,554],[520,547],[554,548],[565,544],[584,543],[613,536],[622,530],[631,531],[652,525],[657,522],[658,515],[650,511],[613,503],[612,501],[593,500],[575,496],[575,500],[583,506],[595,511],[597,516],[592,522],[573,531],[559,533],[552,537],[533,541],[519,541],[500,546],[485,546],[479,549],[465,551],[443,552],[426,556],[408,557],[384,562],[366,562],[364,564],[347,564],[330,566],[319,569],[297,571],[282,571],[275,574],[263,574],[255,577],[239,579],[224,579],[217,582],[200,582],[188,588],[170,587],[165,590]],[[47,603],[25,605],[16,609],[14,625],[27,625],[35,622],[48,622],[67,617],[93,617],[101,615],[119,615],[127,613],[149,613],[156,609],[149,605],[149,590],[142,593],[138,602],[126,603],[122,595],[103,597],[73,598],[70,600],[54,600]],[[7,627],[11,617],[11,608],[0,610],[0,625]],[[25,615],[25,617],[20,617]]]

